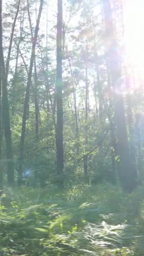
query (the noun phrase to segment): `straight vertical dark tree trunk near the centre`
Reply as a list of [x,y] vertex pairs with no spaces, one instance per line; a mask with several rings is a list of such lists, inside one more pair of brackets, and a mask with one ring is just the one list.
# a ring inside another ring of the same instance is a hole
[[64,168],[63,147],[63,105],[62,105],[62,0],[58,0],[57,37],[56,37],[56,160],[57,175],[61,175]]

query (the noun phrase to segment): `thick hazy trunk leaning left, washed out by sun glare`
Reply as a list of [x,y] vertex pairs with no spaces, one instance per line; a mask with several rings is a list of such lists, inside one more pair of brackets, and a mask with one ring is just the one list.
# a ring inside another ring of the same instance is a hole
[[124,191],[131,192],[136,187],[136,169],[131,163],[128,135],[125,122],[125,108],[120,91],[121,65],[120,54],[112,23],[112,10],[109,0],[102,0],[105,21],[105,36],[110,48],[106,53],[112,77],[114,94],[115,124],[117,127],[117,154],[120,157],[119,177]]

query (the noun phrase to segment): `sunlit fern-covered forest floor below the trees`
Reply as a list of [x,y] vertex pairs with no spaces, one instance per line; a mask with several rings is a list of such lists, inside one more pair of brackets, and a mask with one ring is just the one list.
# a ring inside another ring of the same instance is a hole
[[144,188],[21,188],[0,198],[0,256],[144,256]]

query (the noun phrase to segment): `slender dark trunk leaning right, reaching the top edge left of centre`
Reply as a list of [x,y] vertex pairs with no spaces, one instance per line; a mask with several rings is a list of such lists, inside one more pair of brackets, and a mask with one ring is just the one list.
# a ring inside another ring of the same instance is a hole
[[26,88],[26,96],[24,100],[24,112],[23,112],[23,118],[22,118],[22,129],[21,129],[21,141],[20,141],[20,149],[19,149],[19,177],[18,177],[18,186],[21,186],[22,181],[22,166],[24,161],[24,141],[25,141],[25,133],[26,133],[26,120],[27,120],[27,109],[29,105],[29,93],[30,93],[30,86],[31,86],[31,77],[32,77],[32,67],[33,62],[35,59],[35,46],[37,42],[37,35],[38,35],[38,29],[40,24],[40,16],[43,8],[43,0],[40,0],[40,7],[39,7],[39,13],[37,16],[37,22],[35,27],[35,35],[32,40],[32,52],[31,52],[31,58],[30,58],[30,65],[29,65],[29,74],[27,78],[27,88]]

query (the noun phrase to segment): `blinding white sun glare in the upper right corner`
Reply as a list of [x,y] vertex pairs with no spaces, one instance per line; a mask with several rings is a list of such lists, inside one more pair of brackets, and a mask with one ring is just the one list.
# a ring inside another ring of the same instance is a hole
[[144,0],[125,0],[124,17],[127,65],[144,79]]

